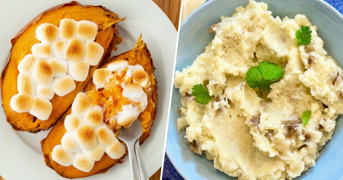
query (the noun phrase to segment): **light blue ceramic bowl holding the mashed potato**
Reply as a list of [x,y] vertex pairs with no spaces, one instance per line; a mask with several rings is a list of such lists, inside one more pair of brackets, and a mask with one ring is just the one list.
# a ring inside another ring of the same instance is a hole
[[[261,1],[261,0],[258,0]],[[324,41],[324,49],[343,67],[343,16],[323,0],[263,0],[273,16],[292,17],[298,13],[307,16],[309,21],[318,26],[318,36]],[[175,70],[182,71],[191,65],[197,55],[214,38],[209,34],[209,27],[220,16],[231,16],[235,8],[246,6],[248,0],[210,0],[191,13],[181,23],[179,45]],[[177,131],[176,120],[180,117],[177,110],[181,107],[179,89],[173,88],[170,106],[169,128],[166,153],[176,170],[185,179],[237,179],[213,167],[213,161],[205,155],[198,155],[189,150],[184,138],[184,131]],[[337,119],[336,130],[316,160],[316,167],[311,167],[296,179],[342,179],[343,178],[343,130],[342,118]]]

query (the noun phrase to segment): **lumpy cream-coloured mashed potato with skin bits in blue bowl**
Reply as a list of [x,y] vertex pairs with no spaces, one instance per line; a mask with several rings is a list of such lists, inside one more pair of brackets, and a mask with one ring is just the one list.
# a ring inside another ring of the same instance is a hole
[[[232,17],[221,17],[212,42],[193,64],[175,72],[182,95],[179,130],[193,152],[238,179],[285,179],[315,166],[343,113],[342,69],[323,49],[317,27],[305,15],[274,18],[267,4],[249,1]],[[309,26],[312,40],[296,46],[295,32]],[[285,71],[265,89],[244,81],[249,68],[271,61]],[[192,87],[206,85],[212,100],[194,101]],[[301,125],[303,111],[311,110]]]

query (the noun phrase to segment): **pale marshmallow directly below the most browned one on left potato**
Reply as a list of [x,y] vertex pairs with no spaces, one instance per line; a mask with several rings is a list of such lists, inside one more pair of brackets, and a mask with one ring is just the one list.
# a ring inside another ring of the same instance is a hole
[[68,61],[68,73],[75,81],[84,81],[88,77],[90,65],[86,62]]

